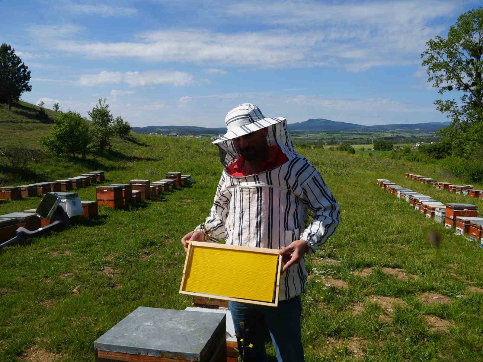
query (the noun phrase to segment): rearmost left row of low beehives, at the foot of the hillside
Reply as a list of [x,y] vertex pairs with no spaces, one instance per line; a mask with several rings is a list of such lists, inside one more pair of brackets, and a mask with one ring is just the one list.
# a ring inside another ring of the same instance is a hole
[[104,181],[104,171],[92,171],[65,180],[0,187],[0,199],[20,200],[22,197],[45,195],[48,192],[68,192]]

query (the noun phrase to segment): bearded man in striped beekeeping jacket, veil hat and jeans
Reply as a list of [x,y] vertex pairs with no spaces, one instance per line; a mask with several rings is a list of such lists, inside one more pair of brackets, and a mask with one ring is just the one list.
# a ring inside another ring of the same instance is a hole
[[[223,238],[228,245],[280,250],[284,266],[278,307],[228,305],[245,362],[267,361],[267,327],[279,362],[304,361],[300,335],[300,294],[307,281],[304,255],[314,253],[335,231],[339,205],[315,167],[295,152],[285,118],[265,117],[258,107],[244,103],[228,112],[225,123],[228,132],[213,142],[225,169],[210,216],[181,242],[185,251],[188,240]],[[313,210],[313,221],[305,228],[307,209]]]

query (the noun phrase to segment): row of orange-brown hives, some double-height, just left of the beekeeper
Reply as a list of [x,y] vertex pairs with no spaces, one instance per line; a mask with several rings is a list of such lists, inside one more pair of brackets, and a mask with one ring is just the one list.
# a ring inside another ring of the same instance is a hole
[[168,172],[166,179],[152,183],[149,180],[131,180],[129,183],[99,186],[96,190],[96,198],[99,205],[120,209],[133,202],[141,202],[142,199],[149,200],[158,197],[163,191],[169,191],[170,188],[185,187],[190,180],[190,175]]

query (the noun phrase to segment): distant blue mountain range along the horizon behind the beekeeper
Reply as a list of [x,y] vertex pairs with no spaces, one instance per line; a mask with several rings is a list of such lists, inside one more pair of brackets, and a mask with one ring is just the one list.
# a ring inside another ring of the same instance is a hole
[[[450,125],[450,122],[428,122],[407,124],[399,123],[396,125],[356,125],[354,123],[330,121],[324,118],[311,118],[305,122],[289,123],[289,132],[340,132],[340,131],[384,131],[384,132],[436,132],[442,127]],[[227,128],[206,128],[190,125],[149,125],[147,127],[133,127],[136,133],[176,133],[178,135],[201,135],[201,134],[225,134]]]

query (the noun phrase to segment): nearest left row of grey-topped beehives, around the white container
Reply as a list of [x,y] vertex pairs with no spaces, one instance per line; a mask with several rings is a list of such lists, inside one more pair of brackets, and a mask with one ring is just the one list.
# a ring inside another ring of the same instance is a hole
[[[77,193],[71,192],[55,192],[54,194],[61,196],[62,198],[78,197]],[[71,221],[75,222],[81,217],[91,219],[98,216],[98,204],[97,201],[81,201],[83,215],[80,217],[71,218]],[[27,209],[23,212],[11,212],[9,214],[0,215],[0,244],[12,237],[15,237],[15,230],[20,226],[25,227],[27,230],[34,231],[39,227],[47,226],[50,223],[56,221],[55,216],[51,220],[40,218],[35,212],[36,209]]]

